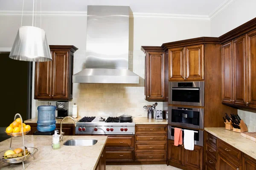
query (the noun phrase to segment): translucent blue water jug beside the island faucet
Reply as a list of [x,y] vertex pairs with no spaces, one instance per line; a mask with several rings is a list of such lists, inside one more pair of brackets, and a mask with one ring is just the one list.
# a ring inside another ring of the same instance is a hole
[[38,126],[36,127],[38,131],[49,132],[55,130],[55,110],[56,106],[52,105],[38,106]]

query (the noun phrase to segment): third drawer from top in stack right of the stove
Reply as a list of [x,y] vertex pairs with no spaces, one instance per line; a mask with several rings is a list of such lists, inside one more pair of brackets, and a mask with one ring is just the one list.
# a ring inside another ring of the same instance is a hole
[[165,152],[166,144],[135,144],[136,152]]

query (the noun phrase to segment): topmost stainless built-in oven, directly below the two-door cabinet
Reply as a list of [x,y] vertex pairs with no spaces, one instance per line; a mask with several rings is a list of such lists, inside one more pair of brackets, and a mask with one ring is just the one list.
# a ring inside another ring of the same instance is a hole
[[169,82],[169,103],[204,106],[204,82]]

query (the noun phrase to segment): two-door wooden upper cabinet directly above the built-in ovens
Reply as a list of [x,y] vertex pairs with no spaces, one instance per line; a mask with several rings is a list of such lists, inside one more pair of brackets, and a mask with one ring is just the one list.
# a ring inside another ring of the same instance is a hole
[[169,49],[169,81],[204,80],[204,45]]

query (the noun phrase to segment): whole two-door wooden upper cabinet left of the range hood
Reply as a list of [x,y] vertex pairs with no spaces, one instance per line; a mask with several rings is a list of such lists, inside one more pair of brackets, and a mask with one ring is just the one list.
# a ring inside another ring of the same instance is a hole
[[35,62],[35,99],[72,99],[73,45],[49,45],[52,61]]

